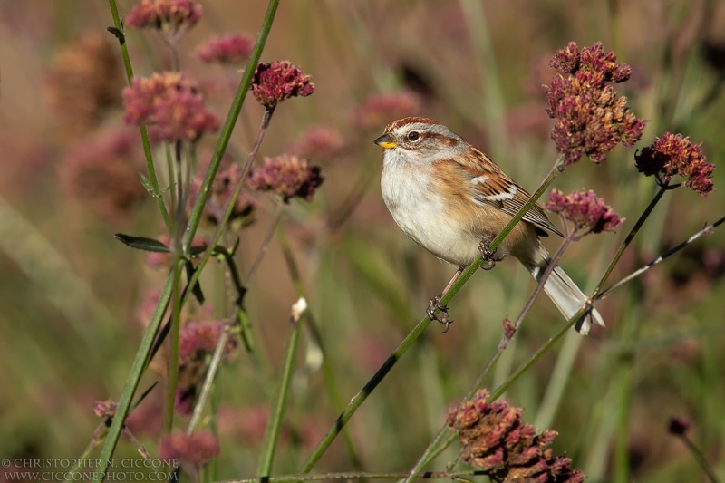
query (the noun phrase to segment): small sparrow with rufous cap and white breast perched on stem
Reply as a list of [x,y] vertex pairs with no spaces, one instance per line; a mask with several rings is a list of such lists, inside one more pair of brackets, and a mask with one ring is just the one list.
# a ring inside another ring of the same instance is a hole
[[[420,117],[394,121],[375,144],[384,150],[382,198],[393,219],[420,246],[459,266],[457,275],[478,256],[490,258],[487,243],[529,198],[526,189],[488,156],[437,121]],[[515,256],[538,279],[551,259],[539,237],[549,233],[562,236],[544,209],[534,205],[504,238],[497,254]],[[587,300],[560,266],[546,280],[544,291],[566,319]],[[431,318],[438,318],[434,312],[438,304],[440,296],[430,302]],[[438,320],[448,327],[445,307],[439,308],[444,314]],[[596,309],[579,332],[587,333],[592,322],[604,325]]]

